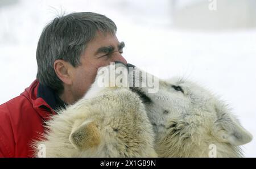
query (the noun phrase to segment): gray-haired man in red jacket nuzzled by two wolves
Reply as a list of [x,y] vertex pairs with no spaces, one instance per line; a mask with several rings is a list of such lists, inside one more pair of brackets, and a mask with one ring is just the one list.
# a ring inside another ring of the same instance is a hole
[[36,80],[0,105],[0,157],[32,157],[30,143],[42,139],[44,121],[56,109],[82,98],[99,67],[127,64],[116,30],[112,20],[93,12],[60,16],[44,28],[36,50]]

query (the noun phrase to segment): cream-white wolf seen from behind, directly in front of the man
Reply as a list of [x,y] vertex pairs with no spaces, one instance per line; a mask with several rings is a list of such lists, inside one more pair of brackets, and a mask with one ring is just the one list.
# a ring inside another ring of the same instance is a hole
[[35,149],[44,145],[46,154],[38,151],[36,156],[157,157],[154,131],[139,96],[128,85],[99,87],[102,76],[97,75],[83,99],[47,122],[45,139],[34,143]]

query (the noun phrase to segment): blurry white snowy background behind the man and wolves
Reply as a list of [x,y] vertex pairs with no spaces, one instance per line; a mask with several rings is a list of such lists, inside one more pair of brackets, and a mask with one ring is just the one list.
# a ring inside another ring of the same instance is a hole
[[[217,0],[209,10],[213,1],[0,0],[0,104],[36,78],[43,27],[63,12],[93,11],[117,24],[128,62],[160,78],[182,76],[207,86],[255,137],[256,2]],[[255,139],[244,150],[256,157]]]

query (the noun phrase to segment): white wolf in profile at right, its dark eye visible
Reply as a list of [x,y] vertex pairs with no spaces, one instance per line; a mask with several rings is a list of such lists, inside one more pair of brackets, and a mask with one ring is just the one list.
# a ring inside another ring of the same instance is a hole
[[225,103],[198,84],[172,78],[159,79],[156,93],[131,89],[144,100],[159,157],[242,157],[239,146],[253,138]]

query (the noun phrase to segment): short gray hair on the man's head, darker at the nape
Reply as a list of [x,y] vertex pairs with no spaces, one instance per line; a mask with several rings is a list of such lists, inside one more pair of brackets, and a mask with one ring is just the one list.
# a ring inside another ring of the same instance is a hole
[[93,12],[76,12],[53,19],[44,28],[36,49],[39,83],[61,94],[63,82],[53,69],[54,61],[64,60],[79,66],[86,44],[94,39],[97,31],[114,35],[117,27],[111,19]]

